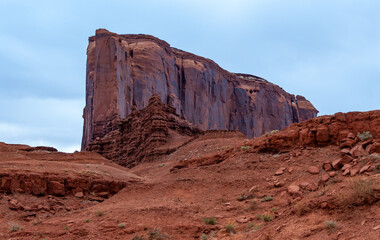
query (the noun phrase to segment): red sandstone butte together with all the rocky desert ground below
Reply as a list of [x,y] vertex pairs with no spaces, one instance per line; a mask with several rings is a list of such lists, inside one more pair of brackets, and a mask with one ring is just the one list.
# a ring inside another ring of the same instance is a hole
[[311,118],[151,36],[88,51],[90,151],[0,142],[0,239],[380,239],[380,110]]

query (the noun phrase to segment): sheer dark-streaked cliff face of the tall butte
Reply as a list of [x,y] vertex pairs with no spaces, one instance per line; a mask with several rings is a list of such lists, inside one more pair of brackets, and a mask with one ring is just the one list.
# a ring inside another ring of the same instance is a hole
[[248,137],[313,118],[318,111],[260,77],[234,74],[213,61],[149,35],[104,29],[89,38],[82,148],[118,129],[157,94],[201,130],[238,130]]

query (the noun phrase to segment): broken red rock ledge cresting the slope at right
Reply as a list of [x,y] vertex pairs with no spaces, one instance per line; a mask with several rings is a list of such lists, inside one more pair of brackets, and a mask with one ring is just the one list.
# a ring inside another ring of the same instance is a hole
[[[293,124],[273,135],[254,139],[251,146],[253,151],[258,152],[281,152],[296,147],[321,147],[331,144],[340,145],[341,148],[352,148],[363,138],[362,135],[368,135],[368,139],[377,139],[373,144],[367,143],[368,153],[378,151],[380,110],[336,113],[313,118]],[[350,154],[354,156],[357,153]]]

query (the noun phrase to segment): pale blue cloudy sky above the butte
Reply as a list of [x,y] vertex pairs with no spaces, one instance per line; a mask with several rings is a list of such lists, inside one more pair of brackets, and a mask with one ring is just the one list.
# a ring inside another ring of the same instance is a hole
[[320,111],[380,109],[378,0],[0,0],[0,141],[80,150],[98,28],[150,34]]

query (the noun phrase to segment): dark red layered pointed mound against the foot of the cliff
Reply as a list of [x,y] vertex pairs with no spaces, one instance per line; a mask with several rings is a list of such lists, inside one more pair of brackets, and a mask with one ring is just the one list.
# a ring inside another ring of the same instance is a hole
[[118,122],[117,129],[96,138],[86,150],[133,167],[175,151],[200,133],[200,129],[180,118],[174,107],[163,104],[154,94],[146,108],[133,108],[127,118]]

